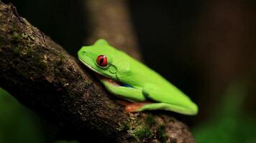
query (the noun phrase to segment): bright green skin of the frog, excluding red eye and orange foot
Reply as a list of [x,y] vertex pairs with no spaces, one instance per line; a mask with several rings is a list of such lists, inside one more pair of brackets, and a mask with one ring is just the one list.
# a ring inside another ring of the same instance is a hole
[[[99,66],[97,57],[107,58],[106,66]],[[180,114],[194,115],[198,107],[177,87],[140,61],[99,39],[92,46],[83,46],[78,58],[101,76],[98,76],[109,92],[130,102],[150,102],[134,112],[164,109]]]

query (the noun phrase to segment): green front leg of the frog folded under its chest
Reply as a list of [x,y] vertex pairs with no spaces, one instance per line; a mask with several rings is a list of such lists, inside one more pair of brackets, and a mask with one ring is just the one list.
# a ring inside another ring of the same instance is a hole
[[106,89],[112,94],[115,94],[116,97],[127,99],[132,102],[143,102],[146,100],[146,97],[142,93],[142,89],[123,87],[120,84],[116,84],[111,81],[111,79],[101,79],[101,82],[104,84]]

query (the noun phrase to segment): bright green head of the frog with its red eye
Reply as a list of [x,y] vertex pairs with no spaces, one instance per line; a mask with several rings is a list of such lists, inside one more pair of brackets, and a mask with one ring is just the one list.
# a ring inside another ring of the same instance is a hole
[[88,68],[111,79],[117,80],[118,70],[127,68],[120,57],[120,51],[114,49],[104,39],[97,40],[92,46],[83,46],[78,51],[78,58]]

